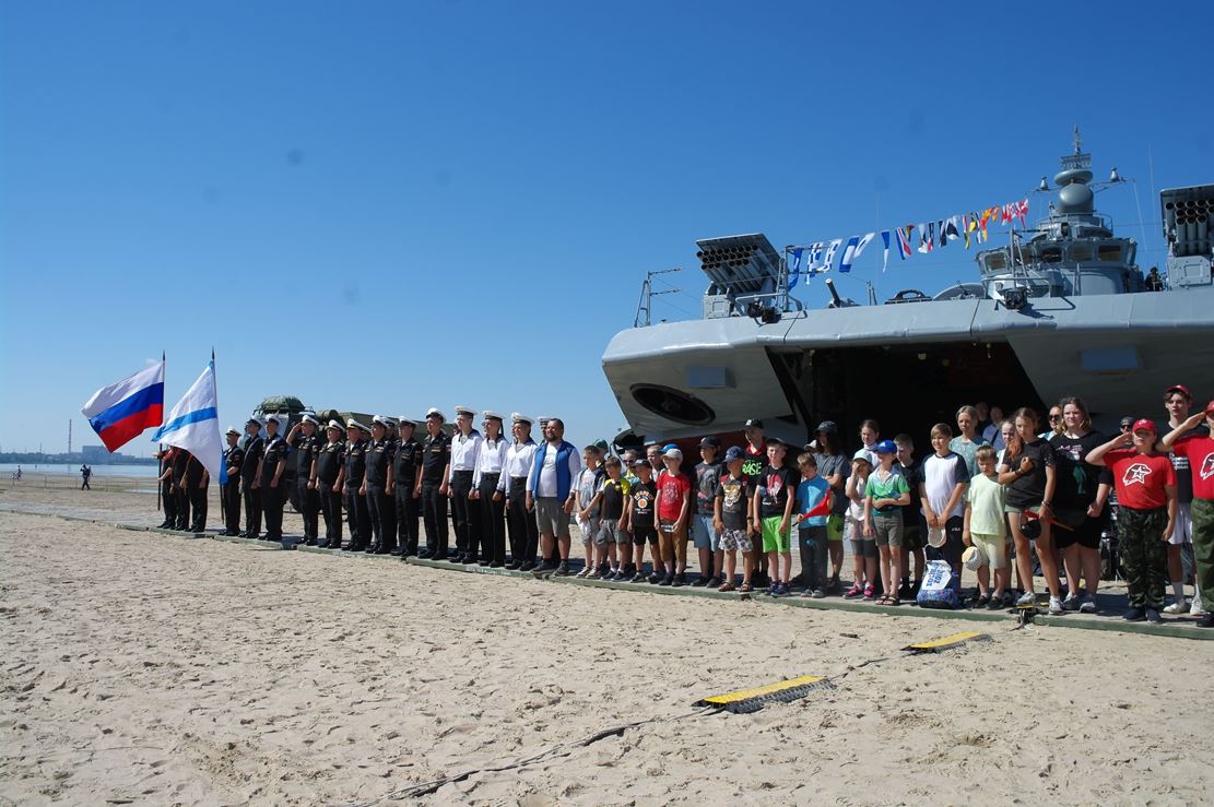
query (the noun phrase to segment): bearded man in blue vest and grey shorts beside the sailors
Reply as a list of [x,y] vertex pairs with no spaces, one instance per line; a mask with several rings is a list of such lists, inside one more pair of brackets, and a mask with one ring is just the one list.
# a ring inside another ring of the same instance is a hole
[[527,477],[527,510],[534,508],[539,525],[541,557],[552,557],[552,545],[560,551],[560,562],[541,562],[532,574],[543,576],[569,574],[569,513],[578,495],[573,479],[582,472],[582,455],[565,441],[565,421],[552,417],[544,424],[544,443],[535,450],[531,474]]

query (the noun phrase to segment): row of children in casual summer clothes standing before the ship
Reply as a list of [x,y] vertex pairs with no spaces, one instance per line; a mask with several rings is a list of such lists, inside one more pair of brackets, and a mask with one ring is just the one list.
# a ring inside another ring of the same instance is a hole
[[[861,430],[864,448],[851,456],[846,474],[839,467],[838,430],[829,421],[806,447],[815,450],[796,456],[795,470],[785,464],[789,447],[779,439],[765,438],[759,443],[761,451],[754,442],[730,448],[722,464],[717,461],[720,443],[704,438],[694,481],[680,472],[683,455],[674,445],[651,447],[646,458],[612,456],[602,467],[601,455],[591,447],[578,479],[577,518],[586,552],[582,576],[688,585],[690,538],[699,551],[702,570],[690,585],[751,591],[765,561],[770,573],[765,592],[784,596],[793,582],[795,534],[804,596],[824,597],[839,587],[841,541],[846,540],[855,575],[845,597],[897,606],[917,591],[925,561],[944,561],[960,573],[964,558],[977,573],[977,604],[997,609],[1036,603],[1036,549],[1050,613],[1093,612],[1106,505],[1116,487],[1125,513],[1118,525],[1130,592],[1127,618],[1156,620],[1164,579],[1157,556],[1175,523],[1175,478],[1169,476],[1167,456],[1157,455],[1169,449],[1186,451],[1173,444],[1184,445],[1193,437],[1209,439],[1208,430],[1195,431],[1195,426],[1203,416],[1214,425],[1212,411],[1190,417],[1192,422],[1178,426],[1162,443],[1153,422],[1145,419],[1133,428],[1124,426],[1106,443],[1093,431],[1085,404],[1063,398],[1060,425],[1053,432],[1039,433],[1036,413],[1020,409],[1011,419],[1012,428],[1005,430],[1006,447],[995,451],[981,438],[974,439],[976,413],[963,407],[960,433],[954,437],[949,425],[936,424],[932,454],[921,462],[913,459],[908,436],[877,439],[877,425],[866,421]],[[1156,459],[1142,459],[1150,456]],[[1203,461],[1214,462],[1209,456]],[[822,473],[819,466],[826,466]],[[1199,467],[1195,478],[1207,471]],[[1214,465],[1209,471],[1203,483],[1214,477]],[[1139,517],[1140,511],[1148,515]],[[1156,533],[1157,545],[1147,546],[1142,536]],[[648,575],[643,573],[646,546],[652,563]],[[736,586],[738,553],[741,586]],[[1023,592],[1019,599],[1011,587],[1012,562]],[[829,574],[828,567],[833,567]],[[1068,582],[1065,598],[1061,567]],[[1080,589],[1080,579],[1087,590]]]

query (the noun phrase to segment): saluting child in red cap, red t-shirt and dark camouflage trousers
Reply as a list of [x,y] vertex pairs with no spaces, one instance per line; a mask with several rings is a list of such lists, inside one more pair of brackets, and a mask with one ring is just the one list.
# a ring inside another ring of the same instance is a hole
[[1088,454],[1090,465],[1107,466],[1117,489],[1117,533],[1130,609],[1127,621],[1163,621],[1164,564],[1176,519],[1176,472],[1167,454],[1155,450],[1155,422],[1134,424],[1127,442],[1118,434]]

